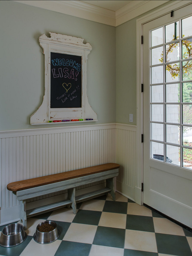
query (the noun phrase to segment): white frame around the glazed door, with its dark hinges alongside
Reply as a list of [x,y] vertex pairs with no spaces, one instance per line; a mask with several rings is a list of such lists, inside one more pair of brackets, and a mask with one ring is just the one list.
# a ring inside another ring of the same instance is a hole
[[[141,84],[143,84],[143,47],[141,36],[143,34],[143,24],[153,19],[159,18],[171,11],[177,10],[188,4],[191,0],[174,1],[171,4],[147,14],[137,19],[137,173],[135,174],[135,202],[143,205],[143,192],[141,192],[141,183],[143,183],[143,143],[141,143],[141,134],[143,134],[143,93],[141,93]],[[173,14],[174,15],[174,14]],[[144,39],[147,40],[147,39]],[[145,88],[145,85],[144,85]],[[145,90],[145,89],[144,89]]]

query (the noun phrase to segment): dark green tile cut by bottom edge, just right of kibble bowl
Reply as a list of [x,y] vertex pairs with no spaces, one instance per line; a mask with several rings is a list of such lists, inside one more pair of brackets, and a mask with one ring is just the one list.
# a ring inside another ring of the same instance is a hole
[[88,256],[91,244],[62,241],[54,256]]

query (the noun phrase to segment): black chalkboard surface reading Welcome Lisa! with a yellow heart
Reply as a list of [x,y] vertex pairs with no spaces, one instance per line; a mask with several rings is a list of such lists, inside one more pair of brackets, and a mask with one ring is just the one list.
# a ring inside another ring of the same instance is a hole
[[51,108],[82,105],[81,56],[51,52]]

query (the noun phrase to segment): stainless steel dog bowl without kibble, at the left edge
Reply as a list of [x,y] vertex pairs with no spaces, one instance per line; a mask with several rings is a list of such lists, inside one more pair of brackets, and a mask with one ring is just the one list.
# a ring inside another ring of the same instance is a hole
[[1,232],[0,245],[3,247],[12,247],[22,243],[27,237],[23,225],[19,223],[10,224]]

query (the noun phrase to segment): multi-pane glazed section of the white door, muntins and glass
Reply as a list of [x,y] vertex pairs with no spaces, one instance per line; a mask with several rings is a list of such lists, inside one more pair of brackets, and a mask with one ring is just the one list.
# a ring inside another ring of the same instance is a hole
[[188,134],[192,136],[192,16],[150,31],[151,158],[192,169]]

